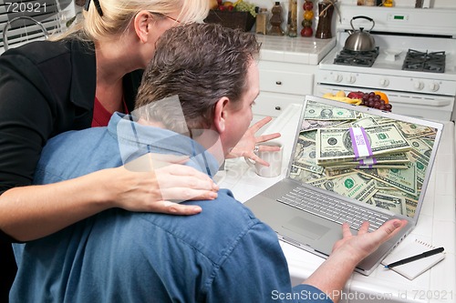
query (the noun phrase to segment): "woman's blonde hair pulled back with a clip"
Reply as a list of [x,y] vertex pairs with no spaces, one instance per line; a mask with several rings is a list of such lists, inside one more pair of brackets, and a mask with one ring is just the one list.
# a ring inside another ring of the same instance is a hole
[[[86,0],[88,1],[88,0]],[[209,12],[207,0],[99,0],[103,16],[98,14],[93,1],[84,18],[72,25],[67,32],[52,40],[78,38],[87,41],[109,40],[124,33],[131,20],[141,10],[161,15],[178,14],[181,23],[202,22]]]

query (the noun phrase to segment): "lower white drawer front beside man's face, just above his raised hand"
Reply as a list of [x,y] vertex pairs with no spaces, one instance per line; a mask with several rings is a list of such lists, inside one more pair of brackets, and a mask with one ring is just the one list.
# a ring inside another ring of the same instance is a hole
[[275,94],[261,92],[256,98],[253,107],[254,115],[258,116],[279,116],[286,108],[293,103],[302,104],[305,96]]

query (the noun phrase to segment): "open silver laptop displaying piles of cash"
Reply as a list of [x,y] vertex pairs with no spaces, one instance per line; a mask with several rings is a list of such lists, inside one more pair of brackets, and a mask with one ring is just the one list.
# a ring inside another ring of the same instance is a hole
[[[393,108],[394,111],[394,108]],[[306,96],[286,177],[244,205],[279,239],[326,258],[363,221],[409,221],[362,260],[369,275],[417,225],[443,125],[424,119]]]

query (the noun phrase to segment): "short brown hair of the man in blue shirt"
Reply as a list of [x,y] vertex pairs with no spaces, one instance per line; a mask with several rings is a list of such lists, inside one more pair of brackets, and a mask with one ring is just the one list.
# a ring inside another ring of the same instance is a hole
[[172,129],[167,125],[172,117],[152,102],[177,95],[189,128],[211,126],[213,106],[221,97],[237,102],[244,94],[247,70],[259,49],[255,35],[222,25],[172,27],[161,35],[144,72],[137,115]]

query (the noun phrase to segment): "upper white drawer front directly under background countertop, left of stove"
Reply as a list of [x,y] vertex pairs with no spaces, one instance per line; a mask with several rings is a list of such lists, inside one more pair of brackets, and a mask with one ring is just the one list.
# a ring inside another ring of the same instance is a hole
[[262,91],[292,95],[311,95],[313,86],[314,74],[260,69],[260,89]]

